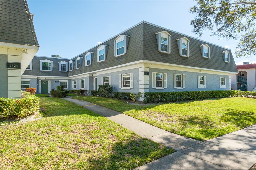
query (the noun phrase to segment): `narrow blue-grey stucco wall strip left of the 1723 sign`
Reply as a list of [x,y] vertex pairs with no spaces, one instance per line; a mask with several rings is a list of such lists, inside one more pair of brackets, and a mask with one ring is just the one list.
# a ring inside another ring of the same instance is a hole
[[6,68],[7,55],[0,54],[0,98],[7,98],[7,89],[8,89],[8,69]]

